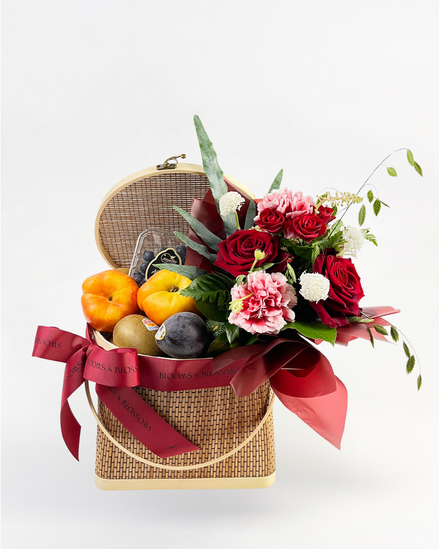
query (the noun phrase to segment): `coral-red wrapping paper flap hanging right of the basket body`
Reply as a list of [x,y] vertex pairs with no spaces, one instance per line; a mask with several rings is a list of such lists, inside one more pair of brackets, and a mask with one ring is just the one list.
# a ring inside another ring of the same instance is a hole
[[347,390],[339,378],[335,377],[335,380],[337,389],[334,393],[302,398],[283,394],[275,388],[275,376],[271,379],[272,389],[282,404],[340,450],[340,442],[345,430]]

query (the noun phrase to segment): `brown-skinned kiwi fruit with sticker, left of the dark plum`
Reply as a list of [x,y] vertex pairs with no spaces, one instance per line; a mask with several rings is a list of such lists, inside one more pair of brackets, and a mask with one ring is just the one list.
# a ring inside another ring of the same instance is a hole
[[113,331],[114,344],[137,349],[139,355],[164,356],[155,340],[159,327],[142,315],[128,315],[117,322]]

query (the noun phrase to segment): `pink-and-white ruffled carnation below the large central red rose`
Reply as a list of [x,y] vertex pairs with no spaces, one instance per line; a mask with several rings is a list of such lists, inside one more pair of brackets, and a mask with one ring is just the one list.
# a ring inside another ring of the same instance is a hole
[[232,299],[245,298],[239,312],[231,312],[230,324],[251,334],[278,334],[287,322],[294,321],[292,307],[297,303],[296,292],[282,273],[256,271],[247,276],[246,284],[234,285]]

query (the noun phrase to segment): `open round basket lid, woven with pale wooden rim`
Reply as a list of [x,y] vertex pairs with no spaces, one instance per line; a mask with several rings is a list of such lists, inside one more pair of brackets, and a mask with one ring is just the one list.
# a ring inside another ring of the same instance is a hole
[[[255,195],[245,185],[224,177],[249,198]],[[138,171],[117,183],[99,206],[94,234],[100,254],[111,267],[130,267],[139,234],[154,227],[189,233],[189,225],[173,205],[189,211],[193,198],[204,198],[209,180],[197,164],[177,164],[157,170]]]

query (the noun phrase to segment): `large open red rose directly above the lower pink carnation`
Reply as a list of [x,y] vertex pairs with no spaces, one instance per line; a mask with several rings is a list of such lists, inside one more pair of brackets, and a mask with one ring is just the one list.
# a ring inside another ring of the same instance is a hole
[[[284,261],[288,255],[278,250],[279,238],[256,229],[236,231],[227,240],[218,244],[219,252],[213,265],[224,269],[234,277],[247,275],[255,261],[255,250],[265,252],[264,259],[257,261],[255,267],[264,263]],[[276,271],[282,270],[282,265],[274,265]],[[285,268],[285,266],[283,267]]]

